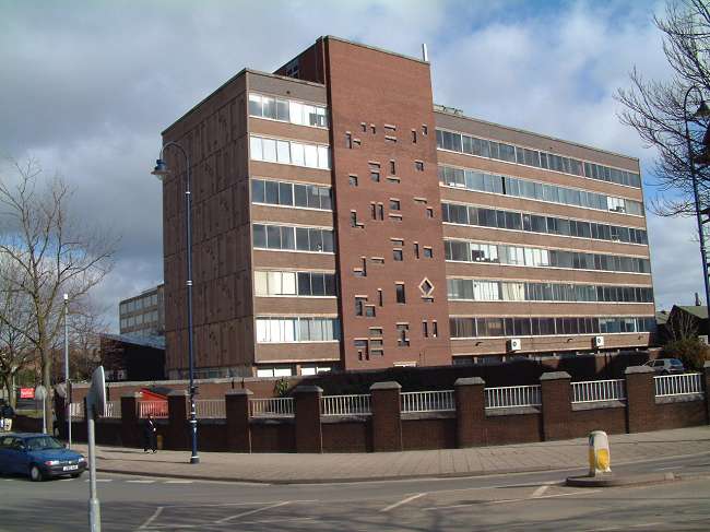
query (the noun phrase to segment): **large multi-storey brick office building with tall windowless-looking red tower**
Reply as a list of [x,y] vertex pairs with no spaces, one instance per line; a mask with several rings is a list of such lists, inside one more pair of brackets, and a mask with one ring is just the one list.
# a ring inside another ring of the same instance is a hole
[[[638,347],[638,161],[435,106],[429,64],[323,37],[170,126],[192,159],[200,376]],[[180,156],[164,185],[167,367],[185,374]]]

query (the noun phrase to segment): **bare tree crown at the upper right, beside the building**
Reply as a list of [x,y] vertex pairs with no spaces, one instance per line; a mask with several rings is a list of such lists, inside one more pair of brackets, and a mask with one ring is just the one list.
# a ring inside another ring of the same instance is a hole
[[[617,99],[626,110],[620,114],[624,123],[631,126],[655,147],[655,175],[661,196],[651,201],[651,209],[663,216],[695,214],[690,154],[685,137],[684,99],[690,86],[688,120],[693,155],[703,153],[707,118],[695,117],[701,94],[710,94],[710,11],[706,0],[670,0],[665,17],[654,17],[663,35],[663,51],[672,68],[670,80],[647,81],[632,70],[631,87],[620,88]],[[699,197],[710,204],[710,166],[696,164]],[[663,196],[672,191],[673,194]]]

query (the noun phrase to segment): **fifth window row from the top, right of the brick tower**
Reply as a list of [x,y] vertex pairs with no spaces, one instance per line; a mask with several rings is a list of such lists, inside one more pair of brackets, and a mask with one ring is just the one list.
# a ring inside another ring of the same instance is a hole
[[449,279],[449,299],[473,302],[653,303],[653,288]]

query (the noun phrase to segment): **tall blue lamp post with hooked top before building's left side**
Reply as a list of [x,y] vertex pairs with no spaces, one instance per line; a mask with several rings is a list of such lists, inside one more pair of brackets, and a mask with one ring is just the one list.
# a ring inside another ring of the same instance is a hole
[[161,149],[161,156],[155,162],[155,169],[151,174],[157,176],[161,181],[169,175],[170,170],[168,169],[165,161],[163,159],[163,154],[167,147],[177,149],[182,155],[185,155],[186,164],[186,179],[185,179],[185,209],[186,209],[186,255],[187,255],[187,295],[188,295],[188,366],[189,366],[189,378],[190,378],[190,444],[192,453],[190,456],[190,463],[200,463],[200,457],[198,456],[198,418],[197,412],[194,410],[194,353],[193,353],[193,341],[192,341],[192,194],[190,192],[190,156],[188,152],[177,142],[167,142]]

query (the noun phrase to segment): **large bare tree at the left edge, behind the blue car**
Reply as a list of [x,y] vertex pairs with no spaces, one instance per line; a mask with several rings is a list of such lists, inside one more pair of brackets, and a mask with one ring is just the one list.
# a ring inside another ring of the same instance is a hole
[[20,275],[0,281],[27,299],[31,319],[0,320],[29,342],[42,382],[50,390],[52,350],[62,334],[62,294],[73,302],[85,299],[110,271],[116,240],[72,215],[72,192],[61,178],[43,179],[34,159],[12,167],[14,176],[0,176],[0,255]]

